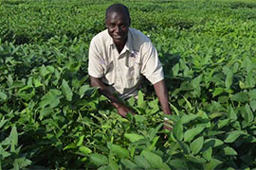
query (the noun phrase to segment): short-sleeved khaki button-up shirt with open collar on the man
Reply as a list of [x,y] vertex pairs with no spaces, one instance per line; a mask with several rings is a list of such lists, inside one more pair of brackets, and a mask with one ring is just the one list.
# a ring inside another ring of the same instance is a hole
[[152,84],[164,78],[155,46],[134,28],[129,28],[120,53],[107,30],[96,35],[90,43],[88,73],[101,77],[109,91],[123,99],[137,95],[142,75]]

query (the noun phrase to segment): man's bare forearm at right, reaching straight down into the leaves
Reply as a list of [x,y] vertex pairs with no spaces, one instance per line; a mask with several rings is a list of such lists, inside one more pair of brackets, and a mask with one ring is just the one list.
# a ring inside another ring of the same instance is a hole
[[[162,106],[162,110],[165,114],[172,114],[172,111],[169,106],[169,100],[168,100],[168,92],[165,86],[164,80],[161,80],[154,84],[155,93],[159,99],[159,102]],[[169,127],[168,121],[165,121],[164,128],[166,129],[172,129]]]

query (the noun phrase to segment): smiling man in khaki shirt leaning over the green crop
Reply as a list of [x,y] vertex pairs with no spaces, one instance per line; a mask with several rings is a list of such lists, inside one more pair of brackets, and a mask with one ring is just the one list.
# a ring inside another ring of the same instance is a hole
[[128,8],[121,4],[107,8],[105,24],[107,29],[90,43],[88,73],[91,85],[99,87],[119,114],[125,117],[132,110],[119,102],[118,98],[137,95],[142,76],[145,76],[154,84],[164,113],[171,114],[155,46],[144,34],[129,27],[131,19]]

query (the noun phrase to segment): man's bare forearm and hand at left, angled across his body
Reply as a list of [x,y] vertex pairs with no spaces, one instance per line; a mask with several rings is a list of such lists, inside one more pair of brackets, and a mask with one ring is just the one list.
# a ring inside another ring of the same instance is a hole
[[111,105],[114,106],[119,114],[123,117],[126,116],[128,112],[133,113],[132,110],[129,110],[127,107],[123,106],[123,104],[119,101],[119,99],[113,94],[110,93],[105,84],[102,82],[101,78],[90,76],[91,85],[94,87],[100,88],[100,93],[106,96],[111,101]]

